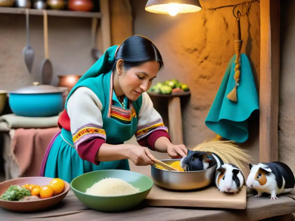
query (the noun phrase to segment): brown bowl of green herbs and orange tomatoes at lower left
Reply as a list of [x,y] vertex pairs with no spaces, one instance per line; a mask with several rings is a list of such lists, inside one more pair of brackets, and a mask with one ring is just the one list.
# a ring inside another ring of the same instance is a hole
[[16,212],[51,207],[66,196],[70,184],[58,178],[22,177],[0,183],[0,207]]

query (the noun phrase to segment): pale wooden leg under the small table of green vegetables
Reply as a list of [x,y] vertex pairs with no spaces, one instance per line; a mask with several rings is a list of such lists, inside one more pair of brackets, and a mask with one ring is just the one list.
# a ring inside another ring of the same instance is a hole
[[168,100],[169,134],[172,144],[183,144],[181,105],[179,97]]

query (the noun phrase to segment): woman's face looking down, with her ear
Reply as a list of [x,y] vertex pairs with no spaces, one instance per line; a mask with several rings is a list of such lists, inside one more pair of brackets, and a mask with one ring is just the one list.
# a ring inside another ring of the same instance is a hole
[[[120,66],[120,64],[117,65]],[[153,80],[157,77],[159,68],[160,64],[158,62],[148,61],[127,71],[121,71],[119,74],[119,84],[124,95],[130,100],[137,100],[143,92],[150,89]]]

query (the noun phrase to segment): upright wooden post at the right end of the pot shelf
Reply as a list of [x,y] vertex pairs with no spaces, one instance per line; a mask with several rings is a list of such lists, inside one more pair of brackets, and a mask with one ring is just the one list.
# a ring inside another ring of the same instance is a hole
[[111,47],[111,22],[109,12],[109,0],[100,0],[100,11],[102,13],[101,18],[101,37],[102,37],[102,53],[104,53],[109,47]]

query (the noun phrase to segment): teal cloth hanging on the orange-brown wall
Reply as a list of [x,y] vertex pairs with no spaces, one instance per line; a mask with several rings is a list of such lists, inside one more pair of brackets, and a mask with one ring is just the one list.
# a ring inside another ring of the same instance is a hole
[[221,85],[205,120],[206,126],[218,135],[237,143],[248,139],[248,122],[253,111],[259,110],[258,93],[247,55],[241,53],[240,81],[237,87],[237,102],[226,96],[235,86],[234,55],[227,65]]

